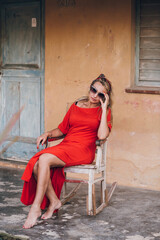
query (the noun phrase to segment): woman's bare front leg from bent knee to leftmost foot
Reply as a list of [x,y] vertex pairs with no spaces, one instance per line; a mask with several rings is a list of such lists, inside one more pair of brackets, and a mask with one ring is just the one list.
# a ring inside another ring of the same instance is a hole
[[[31,228],[36,224],[37,218],[40,217],[41,215],[41,209],[40,205],[42,203],[44,194],[47,191],[48,185],[49,185],[49,180],[50,180],[50,167],[63,167],[65,163],[57,158],[56,156],[52,154],[42,154],[39,158],[39,164],[38,164],[38,177],[37,177],[37,189],[36,189],[36,196],[34,199],[34,202],[31,206],[31,209],[29,211],[27,220],[23,226],[23,228]],[[49,185],[50,186],[50,185]],[[52,188],[53,189],[53,188]],[[50,190],[50,188],[49,188]],[[54,191],[54,190],[53,190]],[[55,193],[52,191],[52,196],[55,197]],[[50,195],[50,193],[49,193]],[[58,199],[58,198],[57,198]],[[55,199],[56,200],[56,199]],[[50,204],[53,209],[53,204]],[[58,203],[55,204],[54,209],[58,207]],[[53,209],[53,211],[54,211]],[[46,213],[45,218],[50,215],[50,211],[48,214]]]

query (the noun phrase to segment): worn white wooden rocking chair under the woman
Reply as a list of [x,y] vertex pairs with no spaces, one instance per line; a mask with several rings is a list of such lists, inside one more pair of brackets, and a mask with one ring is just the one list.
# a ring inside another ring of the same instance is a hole
[[[64,136],[63,136],[64,137]],[[57,140],[59,138],[48,139],[48,141]],[[106,153],[107,153],[107,139],[96,141],[96,157],[92,164],[78,165],[72,167],[65,167],[64,172],[66,180],[64,184],[64,192],[62,198],[62,204],[69,201],[80,188],[82,183],[88,184],[88,195],[86,200],[87,214],[96,215],[106,207],[113,195],[117,183],[114,182],[110,190],[106,189]],[[68,178],[68,173],[86,174],[88,179]],[[97,175],[98,174],[98,175]],[[96,207],[96,194],[95,183],[100,183],[101,192],[101,204]],[[78,183],[70,192],[66,195],[66,183]]]

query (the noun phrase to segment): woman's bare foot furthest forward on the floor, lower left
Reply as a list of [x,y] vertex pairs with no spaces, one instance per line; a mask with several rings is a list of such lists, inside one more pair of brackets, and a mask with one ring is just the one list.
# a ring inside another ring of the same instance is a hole
[[41,209],[38,206],[31,207],[23,228],[28,229],[36,224],[37,218],[41,216]]

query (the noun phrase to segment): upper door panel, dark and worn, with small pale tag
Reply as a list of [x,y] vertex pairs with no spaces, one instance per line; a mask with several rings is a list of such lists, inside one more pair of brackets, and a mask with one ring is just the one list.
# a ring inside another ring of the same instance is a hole
[[38,3],[3,8],[3,58],[6,68],[40,68],[40,9]]

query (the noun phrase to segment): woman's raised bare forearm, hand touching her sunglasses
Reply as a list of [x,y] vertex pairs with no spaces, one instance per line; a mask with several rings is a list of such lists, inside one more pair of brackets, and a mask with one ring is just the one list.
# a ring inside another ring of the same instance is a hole
[[109,127],[107,124],[107,106],[109,103],[109,96],[107,94],[105,94],[105,102],[103,102],[101,99],[101,107],[102,107],[102,116],[101,116],[101,121],[100,121],[100,125],[98,128],[98,132],[97,132],[97,136],[99,139],[105,139],[109,136]]

